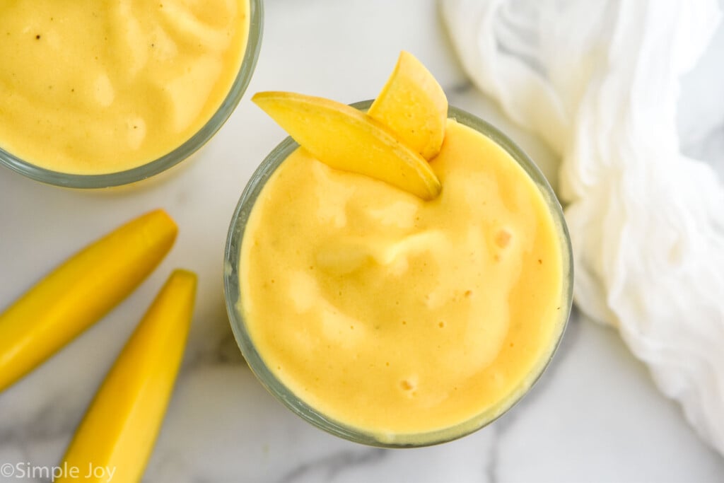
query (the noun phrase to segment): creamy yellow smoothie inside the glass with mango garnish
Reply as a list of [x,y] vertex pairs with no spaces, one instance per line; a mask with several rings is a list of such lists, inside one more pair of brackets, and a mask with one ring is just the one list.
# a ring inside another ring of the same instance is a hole
[[563,227],[510,154],[448,119],[430,165],[442,193],[423,201],[300,148],[266,182],[241,247],[240,310],[264,364],[383,442],[494,419],[568,315]]

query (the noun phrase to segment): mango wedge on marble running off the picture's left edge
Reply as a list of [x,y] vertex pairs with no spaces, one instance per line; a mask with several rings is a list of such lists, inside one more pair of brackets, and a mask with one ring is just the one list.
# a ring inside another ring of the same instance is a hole
[[76,253],[0,314],[0,391],[131,293],[176,233],[165,211],[151,211]]

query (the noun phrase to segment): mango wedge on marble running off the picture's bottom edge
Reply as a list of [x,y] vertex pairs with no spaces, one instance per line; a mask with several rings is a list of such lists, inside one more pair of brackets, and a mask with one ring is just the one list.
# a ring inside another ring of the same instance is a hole
[[195,274],[171,274],[96,393],[59,466],[105,469],[84,481],[107,482],[111,472],[114,482],[140,481],[181,364],[195,292]]

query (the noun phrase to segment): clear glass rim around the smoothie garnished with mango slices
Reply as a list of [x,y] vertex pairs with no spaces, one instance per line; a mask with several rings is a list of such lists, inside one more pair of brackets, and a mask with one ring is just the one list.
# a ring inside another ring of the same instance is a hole
[[[371,103],[372,101],[370,100],[350,105],[364,111],[369,108]],[[299,145],[295,140],[290,137],[285,138],[266,156],[264,161],[261,162],[246,184],[231,219],[224,248],[224,295],[232,332],[234,333],[241,353],[253,374],[259,382],[261,382],[261,385],[271,392],[274,398],[282,402],[282,404],[293,413],[313,426],[330,434],[334,434],[337,437],[342,437],[345,440],[380,448],[418,448],[457,440],[460,437],[476,432],[491,424],[504,413],[507,413],[510,408],[513,408],[513,406],[522,400],[532,387],[534,387],[555,355],[563,339],[565,327],[568,325],[573,303],[573,252],[571,248],[571,237],[568,233],[568,227],[565,224],[565,217],[563,216],[563,209],[555,196],[555,192],[529,156],[527,156],[513,140],[510,140],[508,136],[489,124],[489,122],[454,106],[449,107],[448,117],[492,139],[515,159],[544,196],[550,214],[555,222],[557,233],[560,235],[560,255],[561,263],[563,264],[564,286],[561,291],[560,301],[560,327],[557,328],[559,332],[555,335],[555,344],[550,348],[550,353],[542,356],[541,360],[537,361],[529,377],[521,380],[518,386],[510,392],[504,400],[504,403],[500,406],[478,413],[471,419],[455,424],[452,427],[430,432],[396,434],[391,440],[383,440],[379,438],[379,435],[363,432],[361,429],[350,427],[316,411],[312,406],[295,395],[292,390],[269,370],[251,341],[241,312],[242,301],[239,285],[239,266],[241,261],[240,248],[243,243],[246,222],[266,182],[287,156],[298,148]]]

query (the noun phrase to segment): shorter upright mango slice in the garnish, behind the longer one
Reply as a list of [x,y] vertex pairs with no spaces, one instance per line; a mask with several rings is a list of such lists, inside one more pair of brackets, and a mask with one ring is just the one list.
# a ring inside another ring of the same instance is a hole
[[447,123],[447,97],[413,54],[400,54],[368,114],[425,159],[433,159],[440,152]]

